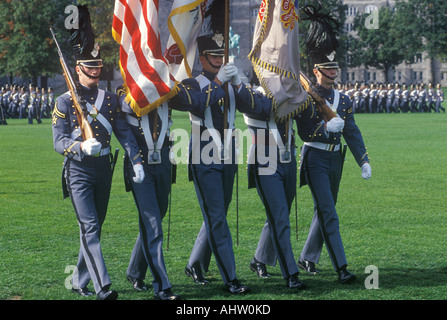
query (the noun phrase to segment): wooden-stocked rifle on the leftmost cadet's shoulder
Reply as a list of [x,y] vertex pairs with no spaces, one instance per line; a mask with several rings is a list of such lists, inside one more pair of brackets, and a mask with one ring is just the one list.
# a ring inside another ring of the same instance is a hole
[[98,115],[98,110],[92,107],[92,110],[88,111],[86,107],[86,102],[79,95],[79,90],[76,86],[76,83],[73,80],[73,77],[68,69],[67,63],[65,62],[64,55],[62,54],[59,43],[57,42],[56,35],[53,31],[53,28],[50,27],[51,35],[53,36],[54,42],[57,46],[57,52],[59,54],[59,60],[62,65],[62,70],[64,72],[64,78],[67,82],[68,90],[70,91],[71,98],[73,100],[73,105],[76,112],[76,117],[78,118],[79,128],[81,129],[82,138],[85,140],[94,138],[92,128],[90,123],[87,120],[87,116],[90,115],[92,118],[96,118]]

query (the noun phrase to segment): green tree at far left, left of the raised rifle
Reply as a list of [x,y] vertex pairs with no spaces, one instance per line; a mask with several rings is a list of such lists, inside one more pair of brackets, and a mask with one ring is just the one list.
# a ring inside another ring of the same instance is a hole
[[0,72],[29,78],[60,72],[50,25],[63,25],[68,0],[0,0]]

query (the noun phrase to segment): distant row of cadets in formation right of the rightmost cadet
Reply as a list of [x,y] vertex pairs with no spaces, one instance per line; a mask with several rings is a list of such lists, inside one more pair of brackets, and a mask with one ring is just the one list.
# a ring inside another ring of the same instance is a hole
[[348,95],[355,113],[445,112],[444,91],[438,84],[338,84],[338,90]]

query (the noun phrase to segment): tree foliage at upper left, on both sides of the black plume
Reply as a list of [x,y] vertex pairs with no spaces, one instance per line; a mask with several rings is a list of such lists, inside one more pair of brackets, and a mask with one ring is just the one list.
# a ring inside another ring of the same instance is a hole
[[[73,50],[66,42],[69,30],[65,29],[65,12],[71,0],[0,0],[0,75],[29,78],[34,82],[40,75],[61,73],[59,56],[51,37],[54,27],[57,40],[69,63]],[[96,41],[101,44],[104,74],[117,68],[119,45],[113,40],[112,19],[114,1],[78,1],[89,7]],[[107,72],[108,71],[108,72]]]

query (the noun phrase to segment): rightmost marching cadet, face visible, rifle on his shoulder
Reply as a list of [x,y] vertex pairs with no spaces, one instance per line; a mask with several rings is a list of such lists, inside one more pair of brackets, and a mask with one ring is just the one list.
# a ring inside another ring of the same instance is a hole
[[356,276],[347,270],[347,260],[340,236],[339,220],[335,204],[341,179],[343,156],[341,137],[346,140],[358,165],[362,177],[371,177],[371,166],[363,143],[363,138],[354,121],[352,104],[347,96],[332,89],[337,77],[338,63],[325,55],[314,58],[314,74],[319,93],[326,98],[331,109],[344,120],[342,132],[329,129],[328,122],[322,121],[319,112],[305,114],[298,118],[298,133],[305,141],[301,152],[300,186],[307,184],[314,199],[315,214],[310,225],[306,243],[298,261],[298,266],[315,274],[315,264],[319,262],[323,243],[326,244],[333,267],[341,283],[351,283]]

